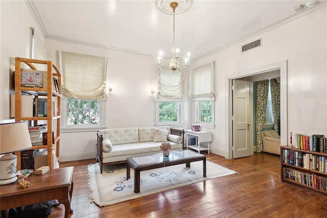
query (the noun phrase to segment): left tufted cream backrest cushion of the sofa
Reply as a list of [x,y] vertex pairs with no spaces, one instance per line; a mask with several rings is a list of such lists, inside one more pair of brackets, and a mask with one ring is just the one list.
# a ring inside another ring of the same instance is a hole
[[110,139],[112,145],[139,142],[137,127],[101,129],[99,133],[103,135],[103,139]]

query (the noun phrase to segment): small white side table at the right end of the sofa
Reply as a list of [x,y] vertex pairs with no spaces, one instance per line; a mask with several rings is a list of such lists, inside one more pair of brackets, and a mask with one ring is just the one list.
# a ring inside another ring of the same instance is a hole
[[[194,132],[192,130],[184,130],[186,134],[186,148],[188,149],[193,148],[197,150],[200,153],[200,150],[208,150],[208,154],[210,154],[210,143],[213,141],[213,134],[211,132],[207,131],[200,131],[200,132]],[[189,145],[189,136],[195,136],[196,143],[195,145]],[[200,146],[201,142],[207,142],[208,146]]]

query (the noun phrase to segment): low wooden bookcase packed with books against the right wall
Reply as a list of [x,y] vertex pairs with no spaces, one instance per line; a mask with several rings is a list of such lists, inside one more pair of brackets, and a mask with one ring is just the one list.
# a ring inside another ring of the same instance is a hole
[[[317,163],[319,160],[320,162]],[[326,152],[298,149],[288,145],[281,146],[281,181],[327,194],[327,170],[323,169],[322,161],[327,164]],[[315,166],[315,163],[318,166]]]

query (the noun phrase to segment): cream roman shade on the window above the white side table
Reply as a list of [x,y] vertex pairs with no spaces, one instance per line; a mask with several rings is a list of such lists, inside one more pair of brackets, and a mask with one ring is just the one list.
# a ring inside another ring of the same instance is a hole
[[192,69],[193,101],[215,101],[214,62]]

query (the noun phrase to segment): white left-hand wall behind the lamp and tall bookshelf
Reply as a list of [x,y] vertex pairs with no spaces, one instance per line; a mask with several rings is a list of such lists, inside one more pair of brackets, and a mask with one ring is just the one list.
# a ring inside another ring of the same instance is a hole
[[30,27],[38,32],[39,29],[25,1],[0,1],[0,9],[0,120],[10,122],[10,94],[14,94],[14,58],[31,57]]

